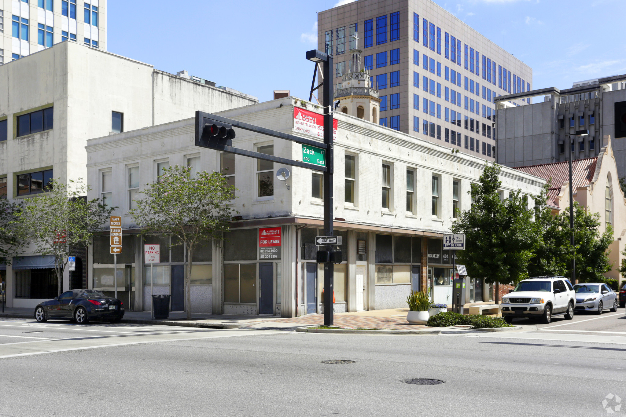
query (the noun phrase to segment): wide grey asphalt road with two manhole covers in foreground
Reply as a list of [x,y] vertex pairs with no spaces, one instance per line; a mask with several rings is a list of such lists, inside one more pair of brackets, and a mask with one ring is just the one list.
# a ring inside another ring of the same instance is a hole
[[[595,321],[612,321],[609,314]],[[542,330],[359,336],[47,324],[0,321],[0,356],[7,343],[33,345],[0,359],[1,416],[599,416],[607,395],[626,398],[626,342],[579,334],[560,341]],[[38,353],[44,348],[51,353]]]

